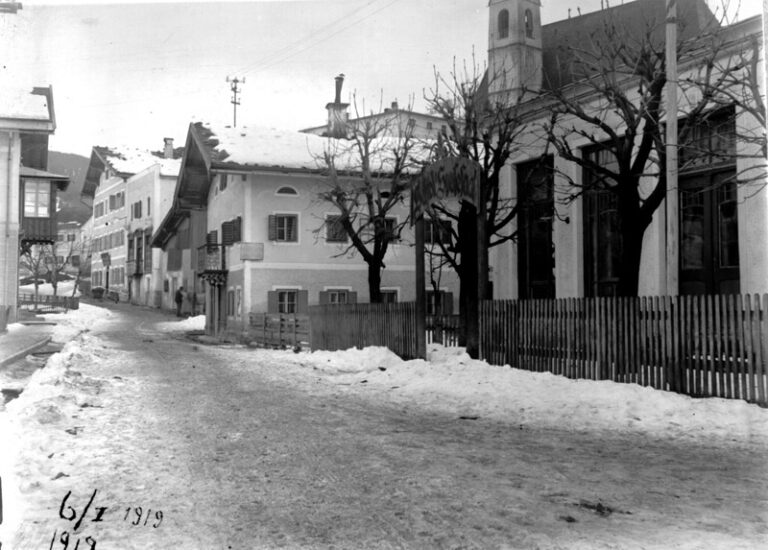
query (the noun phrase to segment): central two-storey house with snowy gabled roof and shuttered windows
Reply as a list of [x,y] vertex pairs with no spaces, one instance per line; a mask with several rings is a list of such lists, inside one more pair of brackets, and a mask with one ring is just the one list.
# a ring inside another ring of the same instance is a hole
[[[318,199],[323,151],[335,140],[298,132],[189,127],[174,205],[153,238],[169,290],[204,302],[207,330],[242,330],[251,313],[305,313],[324,303],[368,302],[367,265],[348,251]],[[408,205],[391,213],[406,220]],[[410,229],[385,258],[385,301],[415,297]],[[445,277],[453,303],[455,278]],[[186,307],[186,306],[185,306]]]

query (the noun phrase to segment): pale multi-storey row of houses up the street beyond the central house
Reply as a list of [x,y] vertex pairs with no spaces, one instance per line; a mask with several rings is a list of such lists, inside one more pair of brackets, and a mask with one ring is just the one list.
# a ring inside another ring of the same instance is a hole
[[122,300],[160,307],[160,252],[149,241],[167,212],[180,160],[173,141],[163,151],[94,147],[82,194],[93,201],[91,286]]

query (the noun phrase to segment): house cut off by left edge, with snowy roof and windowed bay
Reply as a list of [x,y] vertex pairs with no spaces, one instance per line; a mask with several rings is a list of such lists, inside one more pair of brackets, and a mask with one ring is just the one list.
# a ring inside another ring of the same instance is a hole
[[16,320],[19,254],[56,240],[56,193],[65,176],[48,168],[56,129],[51,88],[3,89],[0,106],[0,330]]

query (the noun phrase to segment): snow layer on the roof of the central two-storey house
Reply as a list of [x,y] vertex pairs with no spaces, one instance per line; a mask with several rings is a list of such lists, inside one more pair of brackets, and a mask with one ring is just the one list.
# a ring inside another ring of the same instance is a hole
[[[288,170],[320,170],[326,167],[323,157],[333,155],[336,168],[355,170],[360,156],[353,142],[275,128],[232,128],[208,123],[201,125],[211,132],[207,143],[212,159],[242,167],[280,168]],[[392,150],[397,138],[382,137],[371,145],[372,166],[386,171],[392,164]],[[422,156],[414,147],[413,156]]]

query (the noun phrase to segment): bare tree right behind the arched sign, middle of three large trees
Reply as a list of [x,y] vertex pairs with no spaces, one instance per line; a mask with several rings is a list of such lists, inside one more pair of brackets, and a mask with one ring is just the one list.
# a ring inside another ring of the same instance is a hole
[[[520,116],[520,103],[511,105],[504,94],[488,95],[489,83],[501,75],[486,75],[473,63],[458,71],[454,66],[448,77],[435,71],[434,88],[425,92],[429,109],[446,121],[447,132],[440,135],[435,159],[466,161],[476,170],[462,170],[457,164],[454,174],[477,174],[478,189],[474,201],[462,199],[437,202],[431,207],[436,215],[452,220],[451,239],[438,243],[447,264],[459,276],[460,314],[470,341],[470,355],[476,342],[471,340],[477,319],[474,312],[478,300],[491,298],[488,277],[488,251],[517,236],[512,221],[520,204],[506,196],[501,188],[501,173],[517,151],[525,130]],[[484,216],[484,235],[478,238],[478,217]],[[478,269],[478,265],[480,269]],[[478,288],[484,289],[478,296]],[[473,355],[474,356],[474,355]]]

